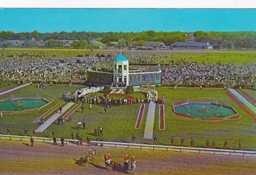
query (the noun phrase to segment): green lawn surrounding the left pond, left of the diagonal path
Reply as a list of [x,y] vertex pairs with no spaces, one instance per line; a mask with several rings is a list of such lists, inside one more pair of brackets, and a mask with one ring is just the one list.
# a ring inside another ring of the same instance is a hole
[[[40,98],[51,98],[53,99],[53,102],[36,112],[27,113],[27,114],[3,115],[3,118],[0,118],[0,133],[6,134],[6,128],[7,126],[9,126],[11,130],[11,134],[13,135],[18,135],[18,134],[23,135],[25,128],[28,129],[28,134],[31,135],[33,129],[36,129],[39,127],[39,124],[33,123],[33,121],[36,120],[36,118],[43,115],[48,110],[50,110],[56,104],[58,104],[60,102],[60,97],[62,95],[62,92],[67,92],[67,91],[74,92],[79,88],[83,88],[83,86],[72,86],[70,88],[64,85],[56,85],[56,86],[53,85],[53,86],[46,86],[45,89],[38,89],[36,88],[36,85],[30,85],[27,88],[24,88],[18,92],[13,93],[14,97],[37,98],[37,95],[39,95]],[[0,100],[5,98],[10,98],[11,96],[12,95],[1,97]],[[50,118],[50,116],[51,115],[47,116],[47,118]],[[43,136],[43,134],[41,134],[41,136]]]

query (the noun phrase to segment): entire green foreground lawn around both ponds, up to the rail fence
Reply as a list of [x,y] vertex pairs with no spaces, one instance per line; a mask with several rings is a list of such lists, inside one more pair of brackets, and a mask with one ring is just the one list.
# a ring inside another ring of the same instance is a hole
[[[24,129],[27,128],[29,135],[31,135],[32,130],[39,126],[38,124],[34,124],[33,121],[59,103],[59,97],[61,97],[62,92],[66,92],[68,90],[75,91],[79,88],[81,87],[75,86],[69,88],[66,86],[48,86],[46,89],[37,89],[35,85],[32,85],[14,93],[14,97],[36,97],[36,95],[39,94],[42,98],[52,98],[54,102],[38,112],[4,115],[3,118],[0,118],[0,132],[5,134],[6,127],[9,126],[11,134],[23,135]],[[205,147],[206,139],[209,139],[211,143],[214,138],[215,146],[217,148],[222,148],[224,139],[227,139],[229,148],[237,149],[238,142],[241,140],[242,147],[244,149],[256,150],[256,125],[253,120],[228,97],[226,90],[215,88],[203,88],[202,90],[197,88],[157,88],[157,91],[160,96],[164,95],[167,99],[165,104],[166,130],[164,131],[160,131],[158,129],[158,104],[156,105],[154,134],[156,134],[159,144],[169,145],[171,142],[171,136],[174,135],[175,145],[180,145],[180,138],[184,137],[185,146],[190,146],[190,139],[193,138],[195,147]],[[209,122],[174,116],[172,113],[172,104],[188,99],[211,100],[226,103],[233,106],[242,118],[236,121],[224,120]],[[72,114],[71,122],[65,121],[62,126],[58,126],[56,123],[53,123],[45,132],[37,133],[36,135],[52,137],[51,132],[54,130],[58,138],[61,136],[70,138],[71,132],[74,132],[74,134],[79,132],[83,140],[85,140],[87,136],[90,136],[90,138],[94,140],[95,135],[93,133],[93,128],[95,126],[102,126],[104,129],[103,140],[105,141],[130,142],[132,133],[134,133],[137,143],[152,144],[152,140],[143,139],[148,105],[146,105],[140,129],[134,129],[139,108],[140,104],[112,107],[111,109],[108,108],[107,113],[104,114],[103,107],[92,105],[91,110],[89,109],[89,104],[86,103],[84,104],[84,113],[81,113],[81,107],[79,107]],[[77,129],[78,121],[86,122],[85,130]]]

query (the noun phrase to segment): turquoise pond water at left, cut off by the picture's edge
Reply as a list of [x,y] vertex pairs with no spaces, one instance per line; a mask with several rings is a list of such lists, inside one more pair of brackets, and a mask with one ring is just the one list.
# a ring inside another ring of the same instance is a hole
[[0,111],[21,111],[40,108],[49,102],[43,99],[16,99],[0,102]]

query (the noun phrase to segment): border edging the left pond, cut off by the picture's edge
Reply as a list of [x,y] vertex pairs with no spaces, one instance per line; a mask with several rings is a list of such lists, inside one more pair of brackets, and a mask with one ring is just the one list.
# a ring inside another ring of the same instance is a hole
[[[44,98],[23,98],[23,97],[21,97],[21,98],[12,98],[12,100],[13,100],[13,99],[14,99],[14,100],[19,100],[19,99],[42,99],[42,100],[44,100],[44,101],[46,101],[46,102],[48,102],[48,103],[45,104],[45,105],[43,105],[43,106],[41,106],[41,107],[39,107],[39,108],[34,108],[34,109],[20,110],[20,111],[1,111],[3,114],[25,114],[25,113],[36,112],[36,111],[38,111],[38,110],[40,110],[40,109],[42,109],[42,108],[48,106],[50,103],[53,102],[52,99],[47,99],[47,100],[46,100],[46,99],[44,99]],[[0,102],[7,101],[7,100],[10,100],[10,98],[1,100]]]

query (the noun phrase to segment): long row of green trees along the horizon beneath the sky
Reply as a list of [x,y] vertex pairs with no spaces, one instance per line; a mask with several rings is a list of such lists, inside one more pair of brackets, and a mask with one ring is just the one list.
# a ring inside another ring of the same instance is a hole
[[[223,47],[227,49],[256,49],[256,32],[53,32],[39,33],[36,30],[33,32],[14,33],[12,31],[1,31],[0,40],[79,40],[75,45],[84,46],[85,41],[96,39],[103,43],[118,41],[123,39],[124,44],[132,41],[139,41],[139,45],[143,45],[145,41],[161,41],[166,45],[174,42],[186,41],[188,36],[194,36],[198,42],[209,42],[215,47]],[[51,45],[60,45],[60,42],[50,42]],[[123,45],[123,44],[122,44]]]

